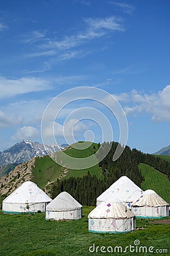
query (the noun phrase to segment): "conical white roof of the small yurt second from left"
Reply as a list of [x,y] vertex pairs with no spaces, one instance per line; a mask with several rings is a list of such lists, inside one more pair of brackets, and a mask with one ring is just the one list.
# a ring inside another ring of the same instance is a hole
[[76,201],[73,196],[71,196],[66,191],[61,192],[53,201],[51,201],[47,206],[46,210],[51,210],[54,212],[64,212],[67,210],[75,210],[81,208],[82,205]]

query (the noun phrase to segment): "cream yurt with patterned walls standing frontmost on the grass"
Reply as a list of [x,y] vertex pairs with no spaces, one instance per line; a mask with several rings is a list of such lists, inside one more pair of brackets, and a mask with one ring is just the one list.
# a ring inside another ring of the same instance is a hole
[[135,215],[122,203],[103,202],[88,214],[89,232],[127,233],[135,226]]

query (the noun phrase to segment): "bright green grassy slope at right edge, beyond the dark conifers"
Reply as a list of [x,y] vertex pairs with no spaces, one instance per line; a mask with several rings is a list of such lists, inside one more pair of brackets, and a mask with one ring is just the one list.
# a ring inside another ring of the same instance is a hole
[[145,177],[145,181],[141,185],[142,189],[153,189],[165,201],[170,203],[170,181],[167,179],[167,175],[162,174],[147,164],[140,163],[139,169],[142,172],[142,176]]

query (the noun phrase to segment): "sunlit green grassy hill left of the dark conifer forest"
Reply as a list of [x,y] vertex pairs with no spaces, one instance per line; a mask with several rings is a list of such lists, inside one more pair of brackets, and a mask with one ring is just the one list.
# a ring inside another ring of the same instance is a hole
[[[76,150],[75,148],[69,147],[64,152],[73,158],[86,158],[87,156],[94,154],[94,146],[97,148],[97,144],[92,143],[86,150]],[[59,152],[57,152],[57,154],[59,154]],[[32,181],[40,188],[43,188],[48,181],[65,179],[66,177],[82,177],[83,175],[86,175],[88,171],[90,171],[91,175],[101,177],[101,169],[98,165],[85,170],[69,170],[59,166],[59,164],[54,162],[47,155],[41,158],[36,158],[35,167],[32,170]]]

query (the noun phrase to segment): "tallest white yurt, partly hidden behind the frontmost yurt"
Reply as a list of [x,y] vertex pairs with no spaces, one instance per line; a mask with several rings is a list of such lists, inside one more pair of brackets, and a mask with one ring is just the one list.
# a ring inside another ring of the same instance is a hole
[[143,193],[132,180],[126,176],[120,177],[114,182],[111,187],[104,191],[99,197],[97,197],[96,205],[99,205],[104,201],[111,201],[118,198],[121,203],[126,204],[128,208],[131,208],[131,203]]

